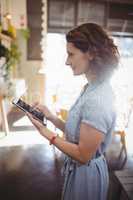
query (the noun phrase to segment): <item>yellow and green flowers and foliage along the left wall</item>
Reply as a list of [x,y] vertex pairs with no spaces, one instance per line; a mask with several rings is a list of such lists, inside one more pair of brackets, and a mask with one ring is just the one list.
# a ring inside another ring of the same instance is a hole
[[[7,96],[13,86],[11,72],[20,62],[21,52],[17,43],[16,28],[11,24],[11,16],[8,14],[6,17],[7,29],[4,30],[0,25],[0,93]],[[22,28],[20,33],[23,38],[29,38],[28,29]]]

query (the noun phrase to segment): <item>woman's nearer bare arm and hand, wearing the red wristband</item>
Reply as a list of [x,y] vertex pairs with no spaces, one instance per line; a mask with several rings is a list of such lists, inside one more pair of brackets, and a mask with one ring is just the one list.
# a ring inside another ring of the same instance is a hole
[[[41,125],[31,115],[28,114],[28,116],[40,134],[50,141],[55,133]],[[85,164],[95,154],[103,139],[104,134],[102,132],[86,123],[81,123],[79,144],[74,144],[60,137],[56,137],[54,145],[74,160]]]

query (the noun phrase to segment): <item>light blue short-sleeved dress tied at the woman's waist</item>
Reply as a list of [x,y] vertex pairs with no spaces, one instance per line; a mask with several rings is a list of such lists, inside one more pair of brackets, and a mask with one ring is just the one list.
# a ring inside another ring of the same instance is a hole
[[[103,156],[115,126],[114,96],[109,81],[87,84],[71,107],[66,121],[66,139],[78,144],[81,122],[104,135],[104,141],[86,164],[65,157],[62,172],[62,200],[106,200],[109,185],[108,168]],[[90,135],[90,134],[89,134]]]

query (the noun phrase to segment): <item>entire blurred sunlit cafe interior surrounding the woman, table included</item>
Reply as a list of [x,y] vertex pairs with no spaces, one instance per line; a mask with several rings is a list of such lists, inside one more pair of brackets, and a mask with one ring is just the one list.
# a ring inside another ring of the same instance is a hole
[[[61,199],[61,151],[12,102],[38,101],[67,120],[86,79],[65,64],[65,34],[86,22],[101,25],[120,52],[111,78],[117,120],[105,153],[108,200],[133,200],[133,0],[0,0],[1,200]],[[47,127],[64,137],[48,120]]]

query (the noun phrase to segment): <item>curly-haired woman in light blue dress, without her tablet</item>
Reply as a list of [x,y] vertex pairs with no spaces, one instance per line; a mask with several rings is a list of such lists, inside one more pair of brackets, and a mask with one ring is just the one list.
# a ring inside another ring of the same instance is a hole
[[117,68],[119,53],[113,40],[94,23],[74,28],[66,40],[66,64],[71,66],[74,75],[85,74],[88,83],[71,107],[66,123],[46,106],[35,106],[65,133],[66,140],[28,116],[40,134],[66,154],[62,199],[106,200],[109,179],[103,154],[115,125],[109,80]]

